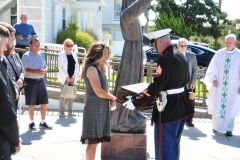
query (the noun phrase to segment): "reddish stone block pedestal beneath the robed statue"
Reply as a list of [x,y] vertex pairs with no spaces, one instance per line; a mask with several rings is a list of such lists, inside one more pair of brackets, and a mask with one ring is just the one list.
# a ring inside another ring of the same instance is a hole
[[112,133],[111,142],[102,143],[102,160],[146,160],[146,133]]

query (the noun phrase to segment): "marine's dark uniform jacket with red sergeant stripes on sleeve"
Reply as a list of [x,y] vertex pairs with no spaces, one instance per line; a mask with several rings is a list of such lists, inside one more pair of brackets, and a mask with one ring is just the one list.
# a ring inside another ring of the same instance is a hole
[[[161,91],[185,87],[189,81],[188,64],[183,54],[175,47],[169,46],[163,52],[163,56],[158,59],[153,83],[148,86],[146,92],[133,96],[132,102],[135,107],[140,106],[157,96]],[[161,123],[175,122],[194,113],[186,92],[167,95],[167,100],[167,105],[161,112]],[[153,122],[159,122],[158,115],[159,111],[155,105],[152,113]]]

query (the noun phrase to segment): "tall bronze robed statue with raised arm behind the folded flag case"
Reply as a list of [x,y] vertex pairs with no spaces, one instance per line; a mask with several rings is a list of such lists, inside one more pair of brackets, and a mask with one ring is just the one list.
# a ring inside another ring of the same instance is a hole
[[[152,0],[123,0],[120,26],[125,40],[119,72],[114,89],[117,96],[120,86],[140,83],[143,76],[142,26],[138,17],[150,6]],[[112,131],[141,132],[146,130],[146,117],[138,110],[130,111],[121,104],[111,115]]]

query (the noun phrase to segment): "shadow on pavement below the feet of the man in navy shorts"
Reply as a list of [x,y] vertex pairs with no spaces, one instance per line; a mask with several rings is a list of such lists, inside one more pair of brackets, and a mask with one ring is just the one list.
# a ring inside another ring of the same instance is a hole
[[37,131],[26,131],[25,133],[21,134],[20,137],[22,138],[22,144],[23,145],[30,145],[32,144],[32,141],[36,140],[39,141],[42,139],[42,136],[45,134],[45,130],[37,130]]

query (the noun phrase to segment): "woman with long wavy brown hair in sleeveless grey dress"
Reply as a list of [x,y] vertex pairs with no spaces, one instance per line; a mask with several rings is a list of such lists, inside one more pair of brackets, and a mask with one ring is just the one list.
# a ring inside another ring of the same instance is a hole
[[108,92],[106,69],[109,55],[110,48],[104,43],[93,43],[80,75],[86,84],[87,95],[81,136],[82,144],[87,144],[87,160],[94,160],[98,143],[111,139],[110,108],[116,106],[116,97]]

